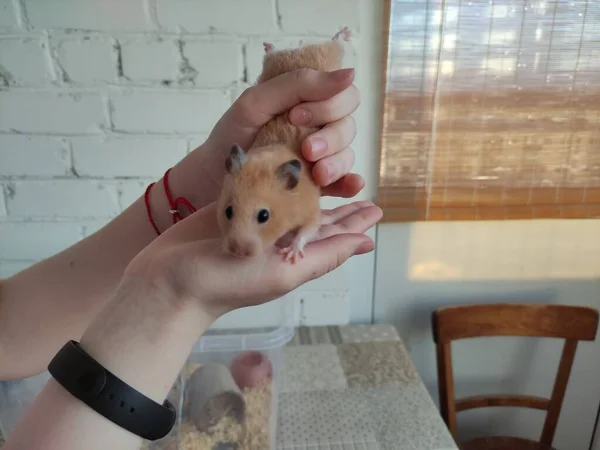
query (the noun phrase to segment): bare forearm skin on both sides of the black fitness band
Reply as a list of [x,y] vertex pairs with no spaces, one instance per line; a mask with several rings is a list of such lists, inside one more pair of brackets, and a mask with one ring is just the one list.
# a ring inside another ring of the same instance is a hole
[[[192,346],[212,322],[196,304],[175,303],[146,287],[120,289],[80,343],[107,370],[162,403]],[[3,450],[134,450],[140,443],[141,438],[87,407],[51,378]]]

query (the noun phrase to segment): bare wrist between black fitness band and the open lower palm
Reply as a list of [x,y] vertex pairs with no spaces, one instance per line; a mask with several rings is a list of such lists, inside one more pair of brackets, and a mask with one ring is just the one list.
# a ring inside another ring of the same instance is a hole
[[144,278],[127,277],[83,334],[92,358],[161,403],[212,319]]

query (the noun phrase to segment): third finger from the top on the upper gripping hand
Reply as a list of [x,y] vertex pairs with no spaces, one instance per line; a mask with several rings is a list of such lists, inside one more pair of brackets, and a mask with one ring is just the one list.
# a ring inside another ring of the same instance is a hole
[[346,116],[308,136],[302,142],[302,154],[308,161],[318,161],[348,147],[355,137],[354,117]]

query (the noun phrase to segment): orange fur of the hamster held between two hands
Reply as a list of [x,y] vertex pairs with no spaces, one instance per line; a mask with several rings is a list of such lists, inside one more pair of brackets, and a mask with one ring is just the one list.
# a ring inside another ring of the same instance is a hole
[[[340,69],[344,56],[344,48],[337,40],[285,50],[274,50],[270,44],[267,50],[265,44],[265,50],[257,83],[300,68]],[[244,164],[226,175],[218,200],[218,223],[225,251],[254,255],[292,232],[295,238],[286,252],[292,262],[302,257],[304,244],[317,232],[321,216],[320,187],[312,178],[312,164],[300,150],[304,138],[315,131],[317,128],[290,124],[286,112],[268,122],[252,147],[244,149]],[[300,177],[297,186],[287,189],[277,170],[291,160],[300,161]],[[225,214],[229,206],[233,210],[231,219]],[[263,209],[269,212],[269,220],[259,223],[257,214]]]

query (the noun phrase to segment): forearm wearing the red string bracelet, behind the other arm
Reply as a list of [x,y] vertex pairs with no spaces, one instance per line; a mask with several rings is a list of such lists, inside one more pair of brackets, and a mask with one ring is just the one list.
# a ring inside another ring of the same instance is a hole
[[[174,166],[169,177],[173,195],[185,196],[198,209],[214,200],[219,187],[219,174],[211,174],[214,157],[200,148]],[[159,229],[165,230],[172,218],[161,182],[152,188],[150,203]],[[125,267],[155,237],[140,198],[92,236],[3,280],[0,379],[42,372],[68,339],[79,339]]]

